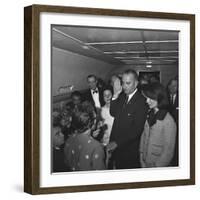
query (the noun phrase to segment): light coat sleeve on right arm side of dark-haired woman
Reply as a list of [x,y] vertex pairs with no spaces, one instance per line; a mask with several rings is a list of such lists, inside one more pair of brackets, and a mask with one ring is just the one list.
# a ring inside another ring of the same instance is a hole
[[166,167],[169,165],[170,161],[174,155],[174,147],[176,140],[176,124],[171,120],[167,120],[164,124],[164,149],[160,158],[155,163],[156,167]]

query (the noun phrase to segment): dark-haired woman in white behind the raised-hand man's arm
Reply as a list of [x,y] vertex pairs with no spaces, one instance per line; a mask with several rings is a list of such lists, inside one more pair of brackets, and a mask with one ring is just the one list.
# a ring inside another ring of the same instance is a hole
[[112,125],[114,118],[110,115],[110,102],[112,99],[112,89],[107,87],[103,90],[103,98],[105,105],[101,108],[101,117],[103,118],[104,124],[107,126],[107,129],[104,132],[103,144],[106,146],[109,143],[110,133],[112,130]]

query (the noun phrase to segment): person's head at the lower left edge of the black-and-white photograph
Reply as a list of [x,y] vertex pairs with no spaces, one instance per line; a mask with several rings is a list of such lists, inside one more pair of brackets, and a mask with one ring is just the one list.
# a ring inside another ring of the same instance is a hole
[[64,144],[64,134],[61,131],[61,127],[59,126],[53,126],[53,146],[54,147],[60,147],[62,144]]

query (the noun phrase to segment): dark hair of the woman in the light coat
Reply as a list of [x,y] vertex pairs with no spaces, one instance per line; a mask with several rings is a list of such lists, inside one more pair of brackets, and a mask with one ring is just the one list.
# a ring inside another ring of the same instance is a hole
[[160,83],[150,83],[142,88],[142,93],[145,97],[156,100],[159,109],[167,109],[168,98],[164,86]]

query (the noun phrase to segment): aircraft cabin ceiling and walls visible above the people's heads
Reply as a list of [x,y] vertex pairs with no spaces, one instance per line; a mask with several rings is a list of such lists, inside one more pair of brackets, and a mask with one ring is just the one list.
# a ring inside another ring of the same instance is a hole
[[52,25],[52,96],[57,104],[88,88],[87,76],[107,82],[134,69],[164,86],[178,76],[178,32]]

